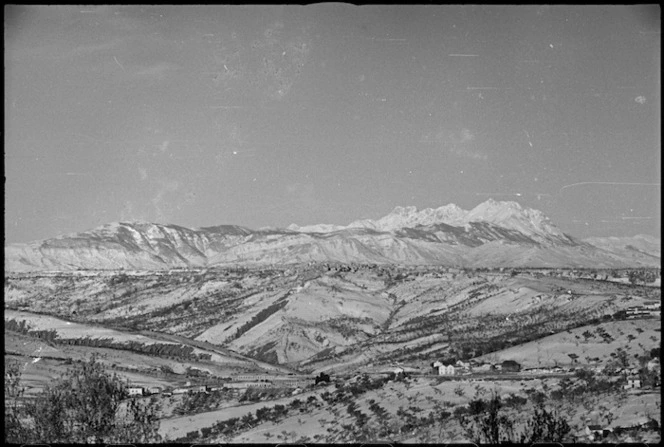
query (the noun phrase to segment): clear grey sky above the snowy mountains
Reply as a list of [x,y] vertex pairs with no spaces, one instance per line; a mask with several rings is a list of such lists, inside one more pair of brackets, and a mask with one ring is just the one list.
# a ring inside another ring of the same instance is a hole
[[539,209],[661,236],[658,6],[5,6],[5,242]]

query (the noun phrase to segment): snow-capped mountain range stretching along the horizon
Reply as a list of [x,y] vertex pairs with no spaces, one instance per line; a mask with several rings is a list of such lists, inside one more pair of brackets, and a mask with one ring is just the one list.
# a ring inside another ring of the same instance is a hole
[[462,267],[659,267],[651,236],[576,239],[541,211],[492,199],[470,211],[454,204],[396,207],[347,226],[252,230],[116,222],[53,239],[5,246],[5,271],[163,270],[302,262]]

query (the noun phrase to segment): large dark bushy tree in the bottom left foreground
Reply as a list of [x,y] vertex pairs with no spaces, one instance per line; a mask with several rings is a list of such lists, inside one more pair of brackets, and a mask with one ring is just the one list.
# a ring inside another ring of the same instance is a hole
[[[7,387],[5,374],[5,387]],[[10,378],[11,379],[11,378]],[[126,383],[108,374],[93,357],[75,365],[34,399],[26,401],[16,420],[18,443],[147,443],[161,440],[159,407],[127,399]],[[5,403],[5,409],[6,409]]]

